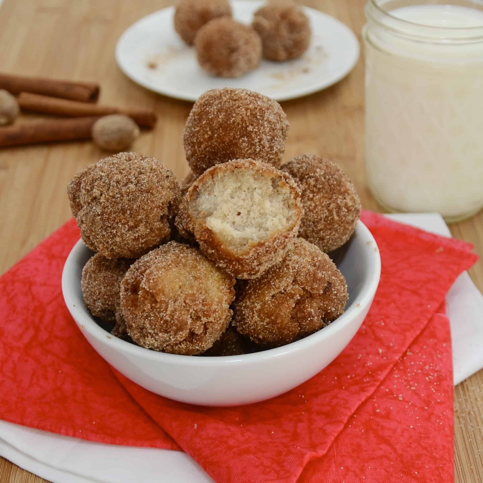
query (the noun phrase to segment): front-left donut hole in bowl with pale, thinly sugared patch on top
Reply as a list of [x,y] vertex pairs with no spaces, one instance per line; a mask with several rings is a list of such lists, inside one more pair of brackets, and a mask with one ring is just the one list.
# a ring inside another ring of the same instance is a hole
[[228,326],[234,284],[199,250],[170,241],[131,265],[121,282],[127,332],[147,349],[201,354]]

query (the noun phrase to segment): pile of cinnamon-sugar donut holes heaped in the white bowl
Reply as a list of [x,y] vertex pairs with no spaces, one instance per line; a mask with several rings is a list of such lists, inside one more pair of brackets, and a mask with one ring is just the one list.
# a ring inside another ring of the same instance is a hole
[[274,100],[213,89],[186,121],[183,181],[138,153],[74,176],[71,211],[95,252],[82,293],[103,327],[156,351],[240,355],[297,341],[344,312],[347,285],[327,253],[350,239],[360,200],[328,159],[282,166],[287,133]]

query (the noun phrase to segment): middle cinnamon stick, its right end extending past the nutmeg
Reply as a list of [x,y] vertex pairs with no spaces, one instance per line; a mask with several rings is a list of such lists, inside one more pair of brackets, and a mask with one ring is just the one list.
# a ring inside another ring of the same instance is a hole
[[29,92],[21,92],[17,97],[23,111],[42,114],[57,114],[66,117],[103,116],[107,114],[125,114],[143,128],[153,128],[156,114],[149,109],[120,109],[111,106],[99,106],[89,102],[57,99]]

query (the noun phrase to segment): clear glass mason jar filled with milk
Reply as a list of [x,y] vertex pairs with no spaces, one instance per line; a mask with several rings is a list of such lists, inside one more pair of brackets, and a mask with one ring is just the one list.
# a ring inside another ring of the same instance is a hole
[[483,0],[369,0],[365,12],[372,194],[391,212],[438,212],[450,222],[477,213]]

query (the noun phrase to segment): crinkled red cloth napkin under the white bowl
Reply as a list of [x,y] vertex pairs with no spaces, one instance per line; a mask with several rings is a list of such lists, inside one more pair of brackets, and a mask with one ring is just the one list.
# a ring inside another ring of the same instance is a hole
[[79,237],[71,220],[0,278],[0,418],[182,448],[219,483],[452,482],[451,341],[441,304],[477,256],[467,243],[375,213],[363,221],[379,245],[381,283],[349,346],[278,398],[220,409],[149,393],[91,349],[60,291]]

